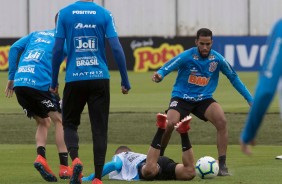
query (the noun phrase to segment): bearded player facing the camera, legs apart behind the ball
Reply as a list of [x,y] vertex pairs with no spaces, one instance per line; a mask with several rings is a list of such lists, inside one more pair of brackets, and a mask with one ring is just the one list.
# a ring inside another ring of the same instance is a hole
[[[217,130],[217,149],[219,176],[228,176],[226,152],[228,144],[227,120],[223,109],[212,95],[215,91],[219,72],[229,79],[234,88],[252,103],[252,96],[239,79],[226,59],[211,49],[212,31],[201,28],[197,31],[196,47],[190,48],[168,61],[152,76],[154,82],[160,82],[174,70],[178,76],[173,86],[170,104],[167,110],[168,125],[162,139],[161,155],[169,142],[174,125],[190,113],[204,121],[210,121]],[[228,98],[228,97],[227,97]]]

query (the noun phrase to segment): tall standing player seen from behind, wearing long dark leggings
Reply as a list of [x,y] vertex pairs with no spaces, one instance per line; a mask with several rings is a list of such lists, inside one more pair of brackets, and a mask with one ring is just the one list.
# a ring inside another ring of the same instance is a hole
[[118,39],[113,15],[91,0],[81,0],[59,12],[53,49],[51,91],[57,86],[59,66],[66,40],[67,66],[63,96],[64,137],[72,159],[70,183],[81,183],[83,164],[78,155],[78,126],[84,106],[88,105],[91,122],[95,180],[100,184],[107,150],[110,104],[110,74],[105,40],[113,51],[121,75],[121,92],[128,94],[130,83],[126,61]]

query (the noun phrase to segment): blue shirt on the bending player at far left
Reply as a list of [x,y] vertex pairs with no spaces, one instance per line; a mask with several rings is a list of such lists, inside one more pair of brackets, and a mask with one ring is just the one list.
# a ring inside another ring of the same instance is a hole
[[[48,91],[51,83],[54,30],[36,31],[16,41],[9,51],[9,80],[14,87]],[[18,56],[21,54],[18,66]]]

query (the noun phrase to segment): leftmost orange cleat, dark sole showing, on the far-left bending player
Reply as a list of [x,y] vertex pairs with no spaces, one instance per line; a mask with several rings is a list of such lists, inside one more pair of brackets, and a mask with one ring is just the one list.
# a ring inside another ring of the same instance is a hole
[[34,167],[41,174],[42,178],[49,182],[57,182],[55,174],[50,169],[46,159],[41,155],[38,155],[34,161]]

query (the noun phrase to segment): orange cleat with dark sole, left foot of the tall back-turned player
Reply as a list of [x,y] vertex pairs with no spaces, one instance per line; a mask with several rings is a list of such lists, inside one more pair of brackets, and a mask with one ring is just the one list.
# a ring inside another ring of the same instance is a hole
[[70,184],[81,184],[82,183],[82,170],[83,170],[83,164],[79,160],[79,158],[76,158],[72,161],[72,176],[70,178]]

